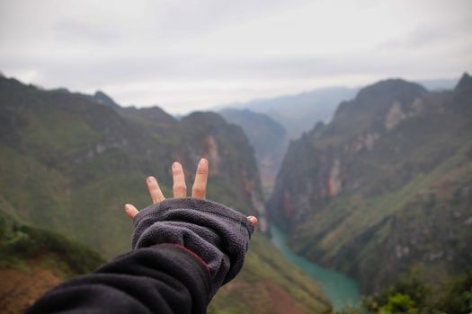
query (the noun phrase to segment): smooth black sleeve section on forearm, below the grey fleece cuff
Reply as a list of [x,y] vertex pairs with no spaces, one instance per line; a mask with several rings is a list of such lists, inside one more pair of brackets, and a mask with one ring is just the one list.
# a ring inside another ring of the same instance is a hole
[[205,313],[209,284],[209,270],[198,257],[161,244],[58,285],[27,313]]

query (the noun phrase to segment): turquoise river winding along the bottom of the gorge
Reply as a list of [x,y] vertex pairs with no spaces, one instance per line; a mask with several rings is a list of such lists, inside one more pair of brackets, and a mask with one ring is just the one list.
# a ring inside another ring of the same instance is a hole
[[322,284],[325,295],[333,303],[335,310],[359,303],[361,293],[356,280],[293,253],[287,246],[287,236],[272,223],[271,232],[272,243],[281,250],[283,256]]

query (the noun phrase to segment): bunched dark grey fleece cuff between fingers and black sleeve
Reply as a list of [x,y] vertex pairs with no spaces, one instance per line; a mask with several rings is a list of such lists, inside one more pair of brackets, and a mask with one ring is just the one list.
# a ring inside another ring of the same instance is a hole
[[243,267],[254,232],[244,214],[190,197],[150,205],[134,218],[134,225],[133,249],[172,243],[200,257],[211,276],[210,299]]

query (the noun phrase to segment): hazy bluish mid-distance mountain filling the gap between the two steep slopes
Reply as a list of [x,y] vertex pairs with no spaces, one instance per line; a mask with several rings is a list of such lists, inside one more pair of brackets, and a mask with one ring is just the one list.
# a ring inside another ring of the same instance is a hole
[[218,112],[227,122],[241,126],[254,147],[266,195],[270,195],[289,138],[287,131],[267,115],[249,109],[223,109]]

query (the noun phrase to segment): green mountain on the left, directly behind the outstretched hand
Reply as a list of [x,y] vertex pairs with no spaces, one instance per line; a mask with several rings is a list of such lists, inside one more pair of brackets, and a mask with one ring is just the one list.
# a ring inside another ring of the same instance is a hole
[[[196,112],[177,120],[158,108],[120,108],[100,92],[45,91],[1,77],[0,155],[0,216],[13,225],[58,233],[107,258],[129,250],[132,223],[122,206],[149,204],[147,175],[154,174],[165,196],[172,196],[173,161],[183,162],[190,187],[200,157],[208,158],[209,199],[264,219],[253,149],[239,126],[215,113]],[[11,233],[3,233],[0,243],[9,243],[6,234]],[[39,244],[41,252],[49,254],[48,243]],[[251,248],[244,270],[218,293],[213,301],[218,307],[212,304],[210,310],[330,309],[321,287],[290,266],[263,232],[254,236]],[[41,274],[56,266],[41,264],[32,270],[30,257],[20,253],[12,253],[18,263],[0,265],[11,280],[32,272],[30,282],[38,292],[62,278],[41,285]],[[59,257],[57,262],[65,263]],[[273,296],[280,301],[263,306]]]

